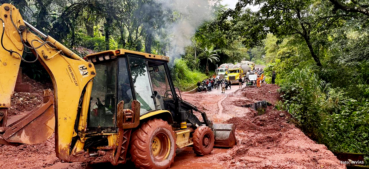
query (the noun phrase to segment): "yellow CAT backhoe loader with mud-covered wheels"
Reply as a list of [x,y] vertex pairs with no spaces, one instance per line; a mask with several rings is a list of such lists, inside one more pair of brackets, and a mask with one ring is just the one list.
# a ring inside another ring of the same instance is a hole
[[[213,124],[173,86],[167,56],[125,49],[81,58],[25,22],[11,4],[0,6],[0,144],[38,144],[55,131],[55,152],[64,162],[125,163],[165,169],[176,148],[236,144],[233,124]],[[24,48],[49,73],[54,92],[25,117],[7,124],[7,112]],[[54,94],[53,94],[54,93]],[[199,120],[198,111],[203,120]]]

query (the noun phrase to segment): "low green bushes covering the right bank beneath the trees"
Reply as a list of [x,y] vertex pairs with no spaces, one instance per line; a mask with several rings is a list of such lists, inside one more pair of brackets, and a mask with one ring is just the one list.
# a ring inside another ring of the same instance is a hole
[[[303,131],[331,151],[369,154],[369,100],[349,98],[331,88],[311,68],[293,69],[280,84],[284,103],[276,108],[296,118]],[[369,93],[367,88],[364,95]]]

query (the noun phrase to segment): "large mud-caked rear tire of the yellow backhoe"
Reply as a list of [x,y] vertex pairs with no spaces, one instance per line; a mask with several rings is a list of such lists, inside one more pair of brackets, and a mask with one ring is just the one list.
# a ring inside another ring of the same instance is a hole
[[176,155],[176,138],[172,127],[157,118],[143,123],[132,134],[130,154],[136,168],[169,168]]

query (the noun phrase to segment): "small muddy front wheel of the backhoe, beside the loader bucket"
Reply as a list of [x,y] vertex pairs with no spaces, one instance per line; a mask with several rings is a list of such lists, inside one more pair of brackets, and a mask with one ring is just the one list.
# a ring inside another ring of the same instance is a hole
[[208,155],[213,151],[214,141],[214,133],[210,127],[197,127],[192,136],[192,149],[199,156]]

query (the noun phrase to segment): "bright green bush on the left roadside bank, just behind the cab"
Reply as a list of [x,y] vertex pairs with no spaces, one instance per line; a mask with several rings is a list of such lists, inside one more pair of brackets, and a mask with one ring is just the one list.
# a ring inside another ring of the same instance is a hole
[[190,70],[187,67],[187,62],[183,59],[174,60],[174,66],[171,73],[175,86],[179,87],[181,90],[196,85],[197,81],[202,81],[207,78],[205,74],[200,73],[197,70]]

